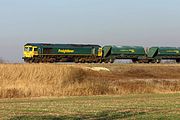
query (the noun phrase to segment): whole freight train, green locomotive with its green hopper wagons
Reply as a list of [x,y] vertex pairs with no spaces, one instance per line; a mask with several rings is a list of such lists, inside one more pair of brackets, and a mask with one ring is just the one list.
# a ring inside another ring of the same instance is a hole
[[171,59],[180,63],[180,48],[27,43],[23,59],[28,63],[113,63],[116,59],[131,59],[133,63],[160,63]]

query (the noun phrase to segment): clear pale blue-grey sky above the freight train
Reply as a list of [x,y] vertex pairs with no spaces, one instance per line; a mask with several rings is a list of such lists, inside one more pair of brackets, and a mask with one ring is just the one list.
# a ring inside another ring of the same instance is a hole
[[28,42],[180,47],[180,0],[0,0],[0,57]]

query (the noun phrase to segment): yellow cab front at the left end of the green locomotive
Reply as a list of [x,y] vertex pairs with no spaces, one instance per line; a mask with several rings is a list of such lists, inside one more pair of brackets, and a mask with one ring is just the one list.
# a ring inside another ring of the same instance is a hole
[[32,58],[38,55],[37,46],[24,46],[24,58]]

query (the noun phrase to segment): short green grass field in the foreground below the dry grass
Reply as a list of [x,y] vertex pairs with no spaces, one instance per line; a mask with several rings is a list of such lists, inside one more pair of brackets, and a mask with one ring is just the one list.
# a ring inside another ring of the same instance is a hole
[[1,99],[0,119],[180,119],[180,94]]

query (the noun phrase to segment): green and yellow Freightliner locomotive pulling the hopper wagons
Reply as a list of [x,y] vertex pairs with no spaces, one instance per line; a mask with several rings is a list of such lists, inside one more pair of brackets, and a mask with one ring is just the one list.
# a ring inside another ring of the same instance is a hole
[[101,62],[102,48],[99,45],[83,44],[44,44],[24,45],[24,61],[39,62]]

